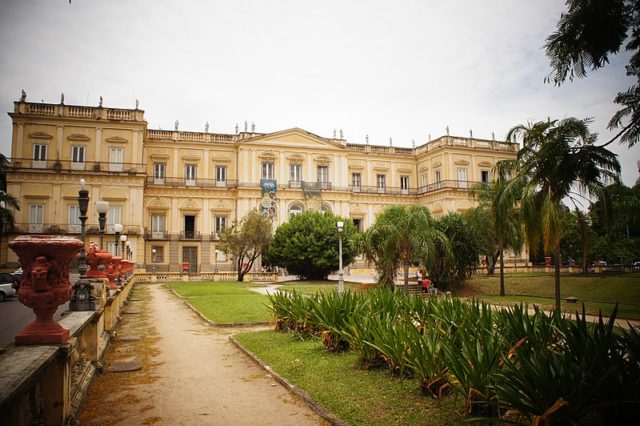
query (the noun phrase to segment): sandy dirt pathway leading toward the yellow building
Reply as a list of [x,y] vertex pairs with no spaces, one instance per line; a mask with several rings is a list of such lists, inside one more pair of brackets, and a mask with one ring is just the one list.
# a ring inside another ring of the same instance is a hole
[[[155,326],[158,336],[153,339],[153,361],[148,363],[153,380],[135,383],[132,375],[129,383],[120,383],[123,397],[113,401],[119,404],[109,405],[124,411],[118,418],[110,416],[110,424],[323,424],[311,409],[229,343],[229,335],[238,330],[210,327],[166,288],[145,287],[146,321]],[[118,333],[126,333],[126,328],[125,324]],[[129,373],[104,375],[114,374]],[[104,424],[107,418],[99,412],[103,408],[88,405],[94,412],[81,415],[80,424]]]

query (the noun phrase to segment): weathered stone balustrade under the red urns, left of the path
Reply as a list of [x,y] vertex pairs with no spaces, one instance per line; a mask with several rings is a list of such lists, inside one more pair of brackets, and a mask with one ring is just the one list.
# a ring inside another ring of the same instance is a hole
[[108,280],[96,280],[96,311],[68,312],[62,344],[23,345],[0,351],[0,424],[64,425],[77,409],[122,315],[135,276],[109,297]]

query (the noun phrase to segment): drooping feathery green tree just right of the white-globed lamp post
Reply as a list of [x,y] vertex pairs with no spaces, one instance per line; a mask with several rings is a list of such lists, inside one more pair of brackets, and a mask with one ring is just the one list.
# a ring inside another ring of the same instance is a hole
[[409,290],[409,266],[433,263],[436,242],[448,248],[446,236],[435,228],[431,212],[424,206],[395,205],[387,208],[359,241],[360,252],[374,262],[380,284],[395,288],[399,267],[404,271],[404,289]]

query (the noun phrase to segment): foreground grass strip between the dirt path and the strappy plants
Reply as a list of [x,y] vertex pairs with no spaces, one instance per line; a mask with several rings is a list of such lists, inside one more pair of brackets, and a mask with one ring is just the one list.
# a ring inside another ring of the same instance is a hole
[[319,340],[259,331],[236,339],[276,372],[352,425],[453,425],[463,418],[461,399],[423,396],[417,381],[363,370],[354,352],[329,353]]

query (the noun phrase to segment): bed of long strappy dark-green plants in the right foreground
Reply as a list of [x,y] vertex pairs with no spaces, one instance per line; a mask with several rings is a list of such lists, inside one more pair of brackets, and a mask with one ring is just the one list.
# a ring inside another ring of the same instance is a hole
[[463,396],[472,419],[514,424],[634,424],[640,412],[640,331],[527,305],[500,310],[386,288],[270,295],[276,330],[322,336],[365,368],[415,377],[434,398]]

